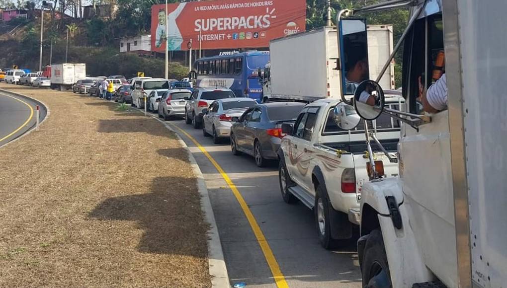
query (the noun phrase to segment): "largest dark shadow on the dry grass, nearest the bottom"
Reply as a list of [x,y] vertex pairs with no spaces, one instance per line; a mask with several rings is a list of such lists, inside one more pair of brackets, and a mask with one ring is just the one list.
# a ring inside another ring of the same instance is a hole
[[144,230],[139,252],[207,258],[208,224],[203,221],[195,185],[194,178],[158,177],[150,193],[106,199],[88,217],[135,221]]

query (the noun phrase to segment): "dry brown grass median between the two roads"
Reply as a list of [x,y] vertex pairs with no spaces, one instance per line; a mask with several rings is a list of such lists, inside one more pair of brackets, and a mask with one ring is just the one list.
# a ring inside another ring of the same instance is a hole
[[210,286],[208,226],[171,132],[96,98],[0,88],[51,109],[0,148],[0,286]]

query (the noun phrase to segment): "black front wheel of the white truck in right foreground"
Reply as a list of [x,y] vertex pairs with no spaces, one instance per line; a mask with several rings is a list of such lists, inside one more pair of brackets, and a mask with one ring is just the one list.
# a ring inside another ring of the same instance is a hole
[[380,230],[373,230],[368,235],[361,272],[363,272],[363,287],[392,287],[391,273]]

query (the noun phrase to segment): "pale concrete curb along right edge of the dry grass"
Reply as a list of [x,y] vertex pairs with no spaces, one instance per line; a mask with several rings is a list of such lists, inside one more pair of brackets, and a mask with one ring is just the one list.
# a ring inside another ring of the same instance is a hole
[[[139,109],[130,110],[140,112],[144,115],[144,111],[141,111]],[[206,221],[210,225],[208,230],[208,265],[209,275],[211,276],[211,286],[216,288],[231,287],[231,283],[229,282],[229,274],[227,273],[227,267],[225,265],[224,251],[222,250],[219,230],[216,227],[216,221],[213,213],[213,208],[211,206],[211,200],[209,198],[209,192],[206,188],[206,182],[204,181],[204,176],[202,175],[201,169],[199,168],[194,155],[192,155],[192,152],[187,146],[187,143],[183,141],[182,137],[180,137],[179,134],[174,131],[174,129],[172,129],[169,124],[159,119],[158,117],[155,117],[154,115],[147,114],[147,116],[159,121],[162,125],[165,126],[165,128],[173,132],[174,135],[176,135],[179,143],[188,152],[190,164],[194,170],[195,175],[197,176],[197,189],[201,195],[201,210],[204,212]]]

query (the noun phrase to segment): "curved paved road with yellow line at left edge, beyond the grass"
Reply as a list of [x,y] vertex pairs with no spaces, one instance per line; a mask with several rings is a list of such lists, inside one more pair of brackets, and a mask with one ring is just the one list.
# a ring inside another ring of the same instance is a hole
[[[18,138],[35,127],[33,100],[0,92],[0,146]],[[31,108],[31,109],[30,109]],[[41,109],[41,119],[45,110]]]

